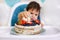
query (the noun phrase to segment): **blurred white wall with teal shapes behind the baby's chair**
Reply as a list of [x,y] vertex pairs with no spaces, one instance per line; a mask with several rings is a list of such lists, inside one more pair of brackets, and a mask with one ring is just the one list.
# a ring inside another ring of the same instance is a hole
[[36,1],[41,5],[41,20],[45,25],[60,26],[60,0],[0,0],[0,26],[8,26],[16,3]]

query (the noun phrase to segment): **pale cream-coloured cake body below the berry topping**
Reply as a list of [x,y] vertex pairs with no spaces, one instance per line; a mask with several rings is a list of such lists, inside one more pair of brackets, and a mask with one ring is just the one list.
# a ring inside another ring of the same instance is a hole
[[41,30],[40,25],[36,26],[22,26],[15,24],[15,32],[18,34],[39,34]]

